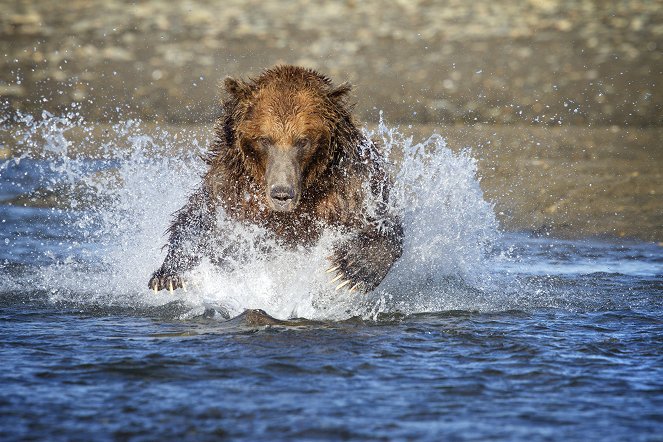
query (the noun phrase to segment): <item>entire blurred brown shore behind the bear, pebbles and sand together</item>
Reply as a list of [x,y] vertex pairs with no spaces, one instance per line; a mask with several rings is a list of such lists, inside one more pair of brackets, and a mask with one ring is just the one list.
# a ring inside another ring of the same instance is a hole
[[[0,1],[0,106],[206,126],[226,75],[356,85],[356,114],[472,147],[503,226],[663,240],[660,0]],[[7,153],[5,153],[7,155]]]

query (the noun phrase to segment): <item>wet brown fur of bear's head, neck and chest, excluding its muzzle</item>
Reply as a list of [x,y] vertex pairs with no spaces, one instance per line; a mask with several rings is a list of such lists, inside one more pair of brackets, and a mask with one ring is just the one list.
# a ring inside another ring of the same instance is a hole
[[[270,227],[291,242],[305,239],[300,237],[307,233],[301,228],[304,219],[356,225],[367,175],[358,160],[366,140],[350,115],[350,86],[335,88],[328,78],[293,66],[270,69],[249,83],[235,82],[226,80],[224,117],[216,124],[208,157],[205,183],[213,198],[236,219]],[[263,196],[265,165],[251,143],[269,137],[292,146],[304,135],[317,148],[302,159],[300,207],[292,213],[273,212]]]

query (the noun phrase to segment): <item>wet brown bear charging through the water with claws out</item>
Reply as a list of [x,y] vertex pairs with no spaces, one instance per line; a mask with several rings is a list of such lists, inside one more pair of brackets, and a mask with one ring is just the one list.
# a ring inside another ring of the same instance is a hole
[[[388,207],[390,180],[379,144],[355,125],[351,86],[318,72],[276,66],[249,81],[226,78],[222,115],[200,188],[175,214],[168,254],[149,281],[183,287],[204,256],[236,250],[217,210],[289,246],[315,243],[325,227],[345,231],[330,256],[337,289],[369,291],[401,256],[403,228]],[[370,207],[370,208],[369,208]]]

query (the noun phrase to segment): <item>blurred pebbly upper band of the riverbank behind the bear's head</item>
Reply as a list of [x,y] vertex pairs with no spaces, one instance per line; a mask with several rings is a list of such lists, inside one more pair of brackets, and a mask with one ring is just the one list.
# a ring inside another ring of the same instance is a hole
[[210,121],[216,84],[275,63],[414,123],[659,125],[658,1],[0,1],[6,110]]

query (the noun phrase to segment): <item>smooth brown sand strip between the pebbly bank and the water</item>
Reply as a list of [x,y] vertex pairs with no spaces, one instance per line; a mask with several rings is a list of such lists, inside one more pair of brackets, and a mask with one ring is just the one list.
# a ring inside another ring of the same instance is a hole
[[[397,125],[394,125],[398,127]],[[93,123],[91,130],[70,129],[68,156],[98,158],[94,146],[115,142],[112,125]],[[31,157],[40,152],[19,144],[24,128],[0,131],[4,158]],[[164,133],[175,140],[160,155],[177,155],[193,143],[206,146],[207,125],[141,123],[140,134],[159,139]],[[453,151],[471,149],[485,198],[494,204],[506,231],[551,235],[559,238],[609,237],[662,242],[663,128],[632,132],[614,127],[532,127],[528,125],[442,126],[403,125],[404,137],[421,142],[433,133],[442,135]],[[85,138],[85,140],[83,140]],[[37,143],[39,148],[42,144]],[[577,146],[583,146],[578,149]],[[118,149],[130,149],[129,145]],[[398,153],[394,162],[398,163]],[[23,195],[17,205],[57,204],[67,195]],[[6,203],[6,202],[5,202]]]

